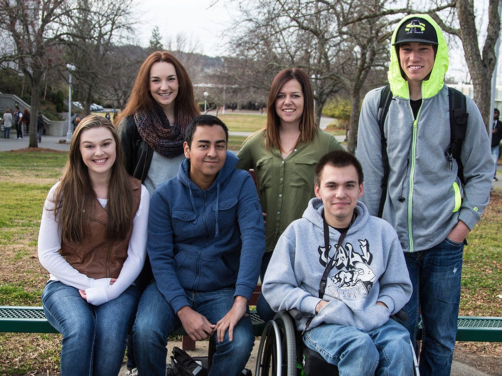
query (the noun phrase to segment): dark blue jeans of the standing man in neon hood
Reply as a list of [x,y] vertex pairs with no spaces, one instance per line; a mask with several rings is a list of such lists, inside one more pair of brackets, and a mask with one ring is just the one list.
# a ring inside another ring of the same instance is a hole
[[[464,243],[445,239],[425,251],[406,252],[413,285],[410,301],[403,310],[403,325],[416,346],[419,313],[422,313],[420,374],[449,375],[457,334],[460,279]],[[417,349],[415,349],[417,350]]]

